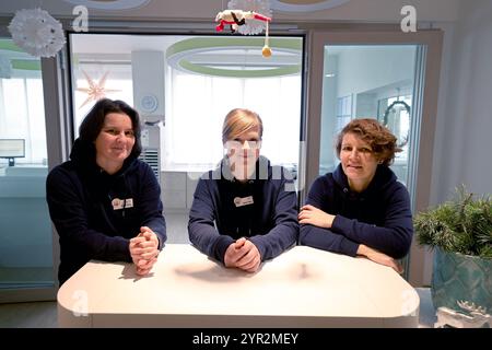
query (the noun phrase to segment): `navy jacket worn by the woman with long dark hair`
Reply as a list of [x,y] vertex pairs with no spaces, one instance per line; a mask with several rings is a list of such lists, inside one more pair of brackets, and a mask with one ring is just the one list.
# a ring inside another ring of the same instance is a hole
[[[161,188],[152,168],[128,158],[109,175],[95,163],[95,148],[78,139],[70,161],[55,167],[46,180],[49,214],[60,236],[60,284],[90,259],[131,261],[129,240],[141,226],[166,240]],[[132,199],[114,209],[114,199]]]

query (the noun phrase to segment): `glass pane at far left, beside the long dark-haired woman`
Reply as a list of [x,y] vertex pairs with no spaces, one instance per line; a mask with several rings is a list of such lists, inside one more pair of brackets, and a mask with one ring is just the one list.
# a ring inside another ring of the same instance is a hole
[[2,139],[25,144],[24,158],[0,159],[0,290],[49,289],[55,282],[40,62],[22,51],[0,56],[32,67],[0,79],[0,147]]

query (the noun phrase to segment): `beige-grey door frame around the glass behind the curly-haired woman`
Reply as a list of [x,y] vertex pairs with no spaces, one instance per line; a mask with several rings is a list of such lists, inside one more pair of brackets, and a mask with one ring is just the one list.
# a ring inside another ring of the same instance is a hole
[[[308,33],[308,82],[306,119],[303,140],[306,140],[302,159],[305,162],[303,172],[304,189],[300,191],[301,201],[304,202],[307,190],[318,176],[320,130],[321,130],[321,103],[323,103],[323,72],[325,45],[423,45],[424,69],[423,77],[415,77],[414,84],[423,89],[421,104],[415,110],[421,112],[421,128],[418,142],[418,154],[414,156],[415,183],[413,184],[412,210],[418,212],[429,207],[432,180],[432,159],[434,149],[435,124],[437,112],[438,81],[441,72],[441,55],[444,33],[441,30],[425,30],[413,33],[403,33],[399,27],[380,31],[355,30],[313,30]],[[419,80],[421,78],[421,81]],[[419,135],[419,133],[418,133]],[[410,178],[410,176],[409,176]],[[414,285],[424,282],[424,254],[422,247],[413,241],[410,249],[410,262],[408,280]]]

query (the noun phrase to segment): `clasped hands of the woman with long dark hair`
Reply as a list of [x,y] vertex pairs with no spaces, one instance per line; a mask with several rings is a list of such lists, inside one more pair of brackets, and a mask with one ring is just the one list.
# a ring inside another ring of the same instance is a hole
[[140,233],[130,240],[130,255],[137,268],[137,275],[149,273],[157,261],[157,235],[148,226],[140,228]]

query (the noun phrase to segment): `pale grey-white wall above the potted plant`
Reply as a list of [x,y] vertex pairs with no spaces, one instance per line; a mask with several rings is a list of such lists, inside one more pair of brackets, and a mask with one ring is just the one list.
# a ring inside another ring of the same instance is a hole
[[460,21],[445,31],[432,203],[465,184],[492,194],[492,1],[462,1]]

